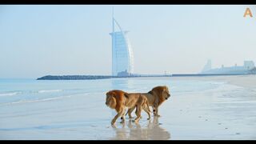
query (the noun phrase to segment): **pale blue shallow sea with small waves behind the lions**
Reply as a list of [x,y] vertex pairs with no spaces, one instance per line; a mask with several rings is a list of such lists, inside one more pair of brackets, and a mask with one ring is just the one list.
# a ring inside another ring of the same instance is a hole
[[34,80],[0,79],[0,106],[28,102],[44,102],[73,95],[98,95],[108,90],[126,90],[128,92],[147,92],[154,86],[166,85],[171,93],[189,93],[209,90],[219,86],[216,82],[195,80],[173,81],[170,78],[113,78],[101,80]]

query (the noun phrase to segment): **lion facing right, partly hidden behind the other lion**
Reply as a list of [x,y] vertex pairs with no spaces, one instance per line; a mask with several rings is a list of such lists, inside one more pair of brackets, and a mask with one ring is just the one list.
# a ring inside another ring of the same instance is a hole
[[[170,92],[167,86],[156,86],[148,93],[141,93],[145,95],[148,99],[149,105],[153,107],[154,116],[160,117],[158,114],[158,107],[165,102],[168,98],[170,98]],[[129,118],[133,118],[131,116],[132,111],[135,107],[130,108],[126,114],[129,115]]]

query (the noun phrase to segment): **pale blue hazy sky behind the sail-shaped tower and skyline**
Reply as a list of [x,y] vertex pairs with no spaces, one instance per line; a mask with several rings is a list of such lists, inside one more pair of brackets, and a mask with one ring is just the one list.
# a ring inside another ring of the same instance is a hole
[[[256,62],[256,6],[0,6],[0,78],[111,74],[112,7],[136,74]],[[249,7],[253,18],[244,18]]]

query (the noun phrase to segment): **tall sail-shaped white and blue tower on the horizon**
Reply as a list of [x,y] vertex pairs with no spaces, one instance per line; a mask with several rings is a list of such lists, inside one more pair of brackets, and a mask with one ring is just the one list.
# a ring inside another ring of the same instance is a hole
[[[115,31],[115,25],[118,31]],[[128,31],[123,31],[118,22],[112,16],[112,75],[134,73],[134,54],[126,37]]]

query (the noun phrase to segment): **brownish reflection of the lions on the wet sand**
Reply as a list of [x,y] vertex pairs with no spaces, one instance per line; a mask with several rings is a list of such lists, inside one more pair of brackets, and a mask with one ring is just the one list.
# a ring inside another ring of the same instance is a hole
[[111,139],[170,139],[170,133],[159,126],[158,118],[151,121],[148,121],[146,126],[141,126],[131,120],[122,123],[121,128],[112,126],[116,134]]

